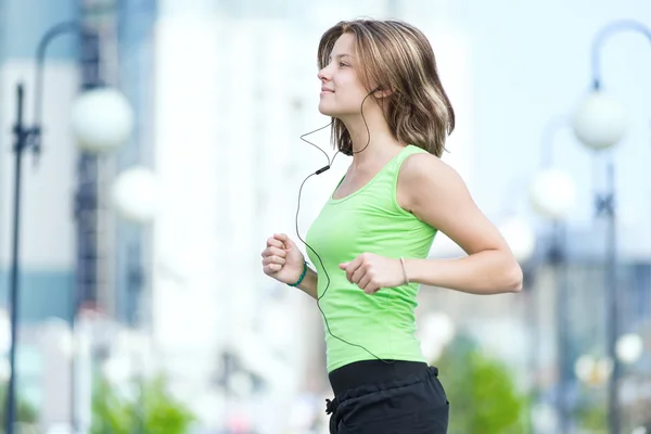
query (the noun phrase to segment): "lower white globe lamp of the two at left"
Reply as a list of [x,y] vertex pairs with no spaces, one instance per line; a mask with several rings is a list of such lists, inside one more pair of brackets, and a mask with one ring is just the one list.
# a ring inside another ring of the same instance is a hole
[[155,218],[158,197],[156,176],[143,166],[123,171],[111,188],[111,202],[117,214],[138,225],[146,225]]

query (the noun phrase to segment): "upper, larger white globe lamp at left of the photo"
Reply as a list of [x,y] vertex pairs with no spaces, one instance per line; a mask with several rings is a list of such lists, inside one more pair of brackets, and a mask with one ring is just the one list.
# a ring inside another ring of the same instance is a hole
[[133,117],[123,93],[98,88],[81,93],[73,103],[71,128],[81,150],[101,154],[115,151],[129,139]]

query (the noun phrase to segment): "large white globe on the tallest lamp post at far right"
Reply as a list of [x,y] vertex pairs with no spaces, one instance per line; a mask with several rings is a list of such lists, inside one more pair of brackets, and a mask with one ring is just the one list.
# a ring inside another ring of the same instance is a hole
[[593,91],[579,104],[572,119],[574,135],[591,150],[616,144],[626,132],[624,106],[602,91]]

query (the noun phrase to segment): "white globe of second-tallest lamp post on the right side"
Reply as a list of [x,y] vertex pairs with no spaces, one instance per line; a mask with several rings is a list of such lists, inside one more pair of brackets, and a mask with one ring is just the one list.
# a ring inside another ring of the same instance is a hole
[[536,175],[529,188],[529,201],[536,213],[552,220],[562,220],[576,203],[576,184],[559,169],[546,169]]

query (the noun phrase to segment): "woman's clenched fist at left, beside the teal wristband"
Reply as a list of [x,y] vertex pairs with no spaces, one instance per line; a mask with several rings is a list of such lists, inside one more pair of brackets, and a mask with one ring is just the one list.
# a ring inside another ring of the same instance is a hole
[[295,283],[303,273],[305,257],[296,244],[284,233],[276,233],[267,240],[263,251],[263,271],[279,282]]

